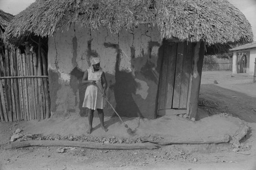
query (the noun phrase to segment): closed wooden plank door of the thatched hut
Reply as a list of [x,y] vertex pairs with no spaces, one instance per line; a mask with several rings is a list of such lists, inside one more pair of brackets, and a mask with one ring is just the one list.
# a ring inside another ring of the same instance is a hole
[[158,115],[185,114],[193,58],[189,42],[164,42],[159,82]]

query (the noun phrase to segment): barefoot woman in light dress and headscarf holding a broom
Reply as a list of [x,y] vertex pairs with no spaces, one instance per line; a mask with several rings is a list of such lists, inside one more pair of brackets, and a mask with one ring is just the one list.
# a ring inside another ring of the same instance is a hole
[[99,114],[101,128],[105,132],[108,131],[108,129],[104,127],[103,113],[103,98],[105,98],[106,96],[106,79],[104,72],[102,71],[102,69],[100,69],[100,59],[98,57],[93,57],[91,59],[91,67],[84,72],[82,83],[88,85],[82,105],[82,107],[87,107],[89,109],[89,129],[87,133],[91,134],[93,130],[93,114],[96,109]]

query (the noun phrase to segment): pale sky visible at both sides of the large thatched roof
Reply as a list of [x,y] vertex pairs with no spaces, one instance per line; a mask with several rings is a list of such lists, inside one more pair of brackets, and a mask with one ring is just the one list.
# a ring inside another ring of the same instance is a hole
[[[65,0],[63,0],[65,1]],[[209,0],[210,1],[210,0]],[[256,41],[256,0],[228,0],[246,16],[251,23],[253,40]],[[16,15],[26,9],[35,0],[0,0],[0,9]]]

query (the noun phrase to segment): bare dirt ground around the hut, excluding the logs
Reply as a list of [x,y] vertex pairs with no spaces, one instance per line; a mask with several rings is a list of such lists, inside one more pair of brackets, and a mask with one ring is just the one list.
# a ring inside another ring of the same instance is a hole
[[[203,72],[196,122],[184,117],[158,119],[124,118],[132,128],[131,137],[117,117],[106,117],[109,131],[99,128],[86,135],[87,117],[70,115],[28,122],[0,122],[0,170],[2,169],[256,169],[256,84],[247,74],[228,71]],[[168,123],[170,122],[170,123]],[[228,134],[236,136],[241,125],[248,134],[234,147],[220,144],[161,145],[154,150],[96,150],[78,147],[27,147],[5,150],[16,129],[36,138],[70,139],[101,143],[138,143],[143,139],[167,141],[208,141]],[[62,149],[63,152],[59,152]]]

